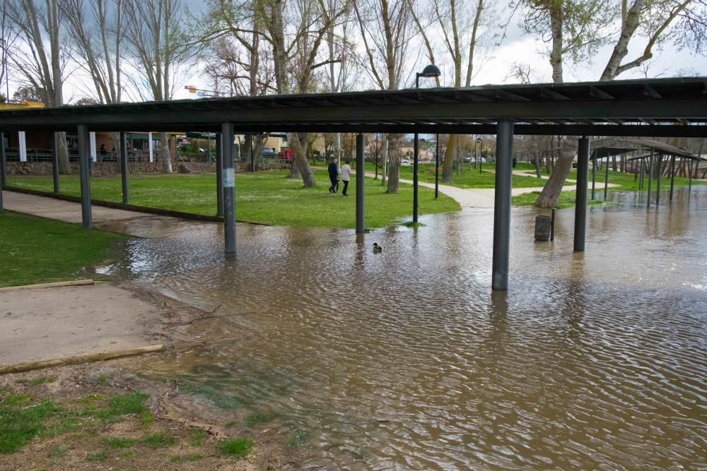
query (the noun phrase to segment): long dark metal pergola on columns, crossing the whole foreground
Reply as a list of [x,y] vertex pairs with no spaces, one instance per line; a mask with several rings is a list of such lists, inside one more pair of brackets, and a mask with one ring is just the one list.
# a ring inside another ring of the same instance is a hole
[[[91,227],[88,132],[136,129],[211,131],[221,133],[223,142],[233,141],[234,130],[359,133],[357,233],[364,232],[364,140],[360,133],[496,134],[492,287],[507,290],[513,135],[583,136],[578,148],[574,234],[575,251],[583,251],[590,160],[587,136],[707,137],[707,77],[210,98],[0,112],[0,131],[78,130],[86,228]],[[218,193],[223,197],[226,252],[234,253],[233,156],[230,145],[220,147]],[[2,153],[4,182],[4,149]],[[416,174],[414,181],[416,187]],[[125,180],[124,189],[127,191]]]

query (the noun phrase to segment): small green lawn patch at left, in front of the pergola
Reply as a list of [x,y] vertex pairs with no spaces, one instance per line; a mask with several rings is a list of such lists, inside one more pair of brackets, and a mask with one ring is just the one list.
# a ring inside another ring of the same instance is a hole
[[0,287],[85,278],[81,268],[127,236],[43,217],[0,213]]

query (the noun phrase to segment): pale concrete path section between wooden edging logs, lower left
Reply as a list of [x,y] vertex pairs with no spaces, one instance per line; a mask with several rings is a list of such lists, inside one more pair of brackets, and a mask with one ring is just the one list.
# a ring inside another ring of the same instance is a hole
[[145,347],[161,312],[110,283],[0,293],[0,364]]

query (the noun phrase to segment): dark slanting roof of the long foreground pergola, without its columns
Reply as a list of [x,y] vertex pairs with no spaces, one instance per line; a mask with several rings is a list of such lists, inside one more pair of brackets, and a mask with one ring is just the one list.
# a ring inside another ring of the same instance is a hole
[[707,136],[707,78],[209,98],[0,112],[4,131],[495,133]]

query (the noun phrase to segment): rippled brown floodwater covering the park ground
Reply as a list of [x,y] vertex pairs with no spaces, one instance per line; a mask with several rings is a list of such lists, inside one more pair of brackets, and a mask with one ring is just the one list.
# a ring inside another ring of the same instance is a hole
[[707,469],[707,189],[612,198],[583,254],[573,210],[551,243],[513,210],[507,293],[489,210],[358,239],[240,225],[235,258],[219,225],[140,220],[108,270],[240,313],[139,369],[179,375],[189,413],[259,412],[304,467]]

